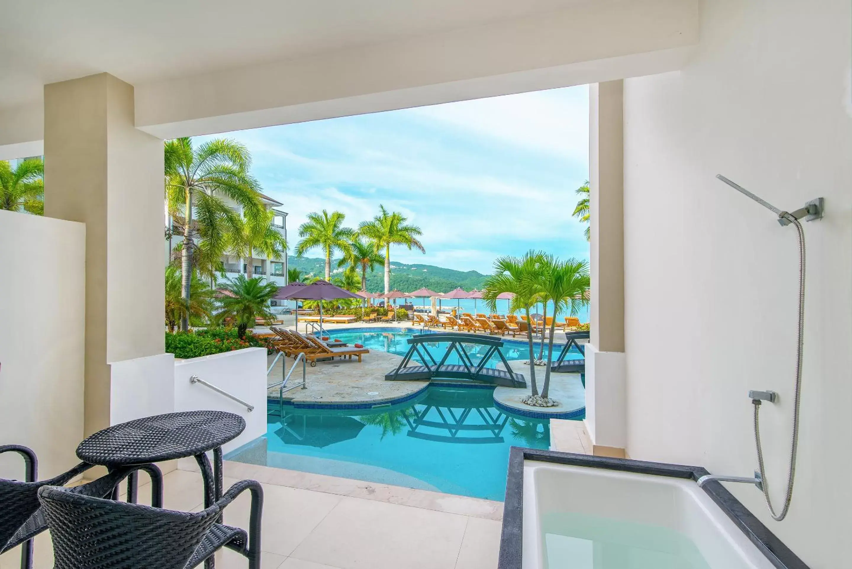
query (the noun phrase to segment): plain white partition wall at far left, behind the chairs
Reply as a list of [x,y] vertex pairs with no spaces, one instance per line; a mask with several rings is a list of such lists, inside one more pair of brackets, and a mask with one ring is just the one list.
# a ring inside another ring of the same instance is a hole
[[[83,439],[83,223],[0,210],[0,444],[37,452],[43,478]],[[23,475],[0,456],[0,478]]]

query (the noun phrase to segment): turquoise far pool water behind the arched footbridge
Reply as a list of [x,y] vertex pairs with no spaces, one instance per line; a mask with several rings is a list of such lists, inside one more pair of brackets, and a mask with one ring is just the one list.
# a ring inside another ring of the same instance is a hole
[[[441,331],[441,330],[437,330]],[[447,330],[449,331],[449,330]],[[365,348],[370,348],[371,350],[378,350],[382,352],[396,353],[398,355],[405,355],[408,352],[408,348],[410,348],[410,344],[407,342],[408,338],[412,336],[423,334],[423,333],[434,333],[430,330],[420,330],[419,328],[386,328],[386,329],[377,329],[377,328],[343,328],[338,330],[328,330],[328,334],[332,339],[341,340],[343,342],[348,342],[351,346],[354,343],[363,344]],[[496,336],[495,336],[496,337]],[[520,338],[520,336],[518,336]],[[527,345],[526,339],[515,340],[509,338],[502,338],[504,347],[501,348],[503,351],[503,355],[509,361],[515,359],[529,359],[529,347]],[[436,361],[440,361],[441,357],[443,357],[446,352],[446,348],[449,346],[448,343],[429,343],[424,344],[426,349],[429,350],[429,353],[432,354],[432,357],[435,358]],[[535,352],[538,355],[538,347],[539,343],[535,342]],[[470,359],[473,360],[475,365],[479,365],[481,358],[486,353],[488,347],[487,346],[477,346],[475,344],[464,344],[464,350],[470,356]],[[554,343],[553,345],[553,358],[556,359],[556,356],[559,355],[560,350],[562,349],[562,344]],[[547,343],[544,344],[544,350],[547,351]],[[577,351],[577,348],[572,348],[571,352],[567,354],[566,359],[576,359],[582,358],[583,354]],[[413,358],[415,361],[419,363],[423,363],[418,356]],[[486,367],[495,367],[500,362],[500,359],[497,355],[492,356],[491,359],[486,363]],[[452,353],[451,356],[446,360],[447,364],[461,364],[461,359],[458,357],[457,353]]]

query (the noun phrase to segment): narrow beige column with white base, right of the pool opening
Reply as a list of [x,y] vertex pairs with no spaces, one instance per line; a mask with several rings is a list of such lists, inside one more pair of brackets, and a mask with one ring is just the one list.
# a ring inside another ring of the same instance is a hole
[[590,85],[590,343],[586,428],[595,454],[624,456],[624,82]]

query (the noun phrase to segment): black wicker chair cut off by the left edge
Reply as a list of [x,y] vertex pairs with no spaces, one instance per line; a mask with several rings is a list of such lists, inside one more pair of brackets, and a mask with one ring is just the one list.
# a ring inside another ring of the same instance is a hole
[[[43,511],[39,509],[38,489],[42,486],[62,486],[69,480],[82,474],[93,465],[80,463],[66,473],[49,480],[37,481],[38,461],[36,454],[26,446],[0,445],[0,453],[17,452],[24,458],[26,465],[25,480],[0,479],[0,553],[23,544],[20,554],[21,569],[32,567],[32,538],[48,528]],[[115,470],[107,476],[89,484],[70,488],[78,494],[107,497],[121,480],[136,470],[145,470],[151,474],[152,503],[163,503],[163,479],[159,469],[153,464],[128,467]]]

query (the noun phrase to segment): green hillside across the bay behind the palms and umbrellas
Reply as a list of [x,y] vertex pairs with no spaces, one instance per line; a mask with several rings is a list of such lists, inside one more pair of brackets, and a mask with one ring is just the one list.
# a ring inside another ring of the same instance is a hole
[[[325,274],[325,260],[314,258],[297,258],[290,256],[287,262],[291,268],[297,268],[302,274],[313,273],[315,276]],[[433,265],[406,265],[391,261],[390,288],[410,292],[425,286],[435,292],[449,292],[457,287],[464,290],[481,289],[486,275],[476,271],[456,271],[452,268],[435,267]],[[331,262],[331,271],[342,272],[337,268],[337,261]],[[332,274],[332,276],[334,276]],[[375,272],[367,272],[367,290],[371,292],[384,291],[384,269],[376,267]]]

